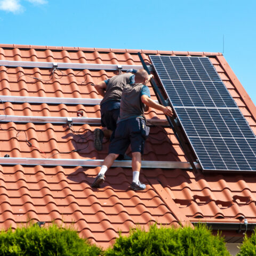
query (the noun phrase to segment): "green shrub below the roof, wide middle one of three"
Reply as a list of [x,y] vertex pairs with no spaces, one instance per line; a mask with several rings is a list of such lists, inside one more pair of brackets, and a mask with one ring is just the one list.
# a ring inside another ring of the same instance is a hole
[[156,256],[229,256],[223,238],[214,236],[203,225],[194,229],[157,228],[150,226],[149,232],[140,228],[130,230],[128,237],[121,234],[113,247],[105,252],[106,256],[119,255],[156,255]]

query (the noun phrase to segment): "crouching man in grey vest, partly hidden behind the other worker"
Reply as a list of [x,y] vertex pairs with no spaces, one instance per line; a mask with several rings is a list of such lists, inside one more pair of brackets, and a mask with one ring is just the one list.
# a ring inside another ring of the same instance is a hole
[[134,75],[137,70],[129,69],[125,74],[113,76],[105,81],[95,84],[95,89],[103,97],[100,103],[101,125],[107,129],[94,130],[94,147],[102,150],[103,137],[112,139],[116,130],[116,122],[120,113],[121,94],[127,84],[134,83]]

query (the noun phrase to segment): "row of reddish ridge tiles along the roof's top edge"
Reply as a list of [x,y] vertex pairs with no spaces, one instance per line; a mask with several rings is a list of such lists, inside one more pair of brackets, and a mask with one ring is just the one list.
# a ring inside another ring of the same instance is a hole
[[57,50],[57,51],[87,51],[87,52],[119,52],[119,53],[145,53],[145,54],[171,54],[171,55],[202,55],[202,56],[221,56],[220,52],[190,52],[190,51],[158,51],[158,50],[137,50],[137,49],[111,49],[93,47],[67,47],[67,46],[47,46],[47,45],[22,45],[22,44],[0,44],[2,48],[19,49],[38,49],[38,50]]

